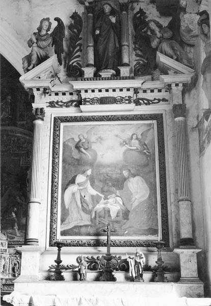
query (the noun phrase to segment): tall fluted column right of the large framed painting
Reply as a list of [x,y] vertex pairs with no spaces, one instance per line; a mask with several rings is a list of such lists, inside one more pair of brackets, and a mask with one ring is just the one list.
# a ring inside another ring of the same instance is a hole
[[173,105],[173,114],[176,123],[176,155],[178,172],[180,245],[193,245],[194,243],[192,232],[192,209],[189,187],[185,113],[186,105]]

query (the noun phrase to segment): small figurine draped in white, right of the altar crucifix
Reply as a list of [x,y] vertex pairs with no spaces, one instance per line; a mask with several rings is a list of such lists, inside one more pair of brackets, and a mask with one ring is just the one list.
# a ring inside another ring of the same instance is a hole
[[143,265],[145,263],[144,254],[137,249],[135,257],[131,258],[127,256],[129,263],[129,275],[133,282],[144,282],[143,279]]

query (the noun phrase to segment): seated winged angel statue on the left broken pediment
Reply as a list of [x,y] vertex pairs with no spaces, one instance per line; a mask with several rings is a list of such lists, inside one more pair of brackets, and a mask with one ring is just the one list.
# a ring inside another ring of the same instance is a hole
[[[28,40],[28,46],[32,48],[31,53],[22,59],[24,73],[41,64],[48,58],[57,55],[60,66],[62,65],[62,54],[64,53],[63,39],[65,37],[65,25],[59,17],[54,18],[57,21],[55,29],[50,31],[50,18],[40,20],[38,32],[34,32]],[[54,49],[52,48],[54,46]]]

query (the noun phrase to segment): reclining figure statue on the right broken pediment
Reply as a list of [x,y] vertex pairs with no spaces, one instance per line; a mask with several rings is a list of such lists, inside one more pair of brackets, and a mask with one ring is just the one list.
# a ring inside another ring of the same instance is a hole
[[188,54],[175,41],[172,40],[173,32],[167,27],[154,19],[147,20],[148,27],[146,28],[151,34],[151,46],[156,48],[158,52],[172,58],[183,65],[192,67],[192,60]]

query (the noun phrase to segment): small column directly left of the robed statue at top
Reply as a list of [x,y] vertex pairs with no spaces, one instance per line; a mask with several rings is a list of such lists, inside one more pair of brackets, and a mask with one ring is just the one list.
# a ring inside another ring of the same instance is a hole
[[87,67],[94,67],[93,7],[87,9]]

